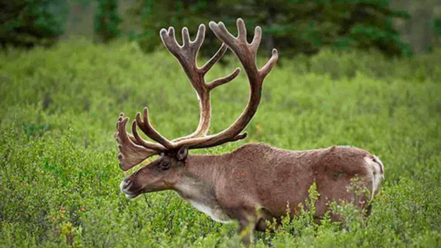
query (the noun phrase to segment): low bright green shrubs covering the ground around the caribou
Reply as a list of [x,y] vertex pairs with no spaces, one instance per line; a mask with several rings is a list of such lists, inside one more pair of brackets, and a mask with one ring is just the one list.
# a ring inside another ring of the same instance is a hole
[[[173,192],[127,200],[116,118],[150,107],[172,138],[192,132],[198,104],[175,59],[134,43],[75,40],[0,54],[1,247],[234,247],[237,225],[214,223]],[[440,247],[441,51],[412,59],[322,51],[281,60],[245,141],[286,149],[356,145],[380,156],[385,182],[369,218],[333,206],[344,223],[286,218],[256,247]],[[209,78],[238,65],[229,56]],[[241,74],[213,93],[212,132],[247,101]],[[130,172],[129,172],[130,173]],[[311,187],[311,201],[318,197]],[[310,201],[309,201],[310,203]]]

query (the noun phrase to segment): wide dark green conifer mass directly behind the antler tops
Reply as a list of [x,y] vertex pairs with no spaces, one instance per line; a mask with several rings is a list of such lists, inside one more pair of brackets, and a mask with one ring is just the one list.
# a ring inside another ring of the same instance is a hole
[[[137,0],[132,10],[142,20],[143,32],[137,39],[145,51],[161,43],[157,32],[169,25],[188,26],[194,32],[198,23],[222,20],[234,28],[236,18],[243,17],[248,27],[263,27],[263,49],[275,45],[285,56],[315,54],[322,47],[376,48],[389,56],[411,54],[392,26],[392,19],[408,15],[391,10],[389,0]],[[206,41],[205,52],[216,47],[213,42]]]

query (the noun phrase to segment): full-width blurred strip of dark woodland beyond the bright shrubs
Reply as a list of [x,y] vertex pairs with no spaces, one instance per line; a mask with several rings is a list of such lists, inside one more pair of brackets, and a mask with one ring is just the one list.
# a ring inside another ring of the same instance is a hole
[[[436,0],[2,0],[1,7],[3,46],[50,45],[85,36],[98,42],[130,39],[152,52],[161,45],[161,28],[188,26],[194,32],[210,20],[231,28],[237,17],[248,27],[263,27],[262,50],[276,46],[288,57],[321,48],[411,56],[441,45],[441,3]],[[203,54],[216,50],[216,42],[209,37]]]

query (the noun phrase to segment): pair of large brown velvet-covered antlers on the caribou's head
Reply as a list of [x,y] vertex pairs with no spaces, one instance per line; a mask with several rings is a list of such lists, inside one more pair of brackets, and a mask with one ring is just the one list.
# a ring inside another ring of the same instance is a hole
[[[212,56],[212,58],[201,68],[198,68],[196,65],[196,57],[205,37],[205,25],[201,24],[199,26],[194,41],[190,41],[187,28],[183,28],[183,45],[177,43],[176,38],[174,37],[174,28],[171,27],[168,30],[161,30],[161,39],[163,40],[165,47],[179,61],[198,95],[199,106],[201,108],[199,124],[196,131],[192,134],[169,141],[167,138],[159,134],[159,132],[157,132],[150,124],[147,108],[143,111],[143,119],[141,119],[141,113],[136,114],[136,121],[132,124],[133,136],[125,132],[125,124],[128,119],[120,116],[118,121],[119,132],[117,132],[116,136],[120,141],[119,149],[121,154],[119,154],[119,158],[121,161],[121,169],[130,169],[149,156],[164,151],[178,149],[184,145],[189,149],[213,147],[227,142],[238,141],[247,136],[246,132],[243,134],[240,134],[240,132],[245,129],[254,114],[256,114],[260,103],[263,80],[271,69],[274,68],[278,59],[278,52],[276,49],[273,49],[269,61],[267,61],[263,68],[258,69],[256,66],[256,54],[262,38],[262,30],[260,27],[256,27],[254,39],[252,43],[248,43],[244,21],[238,19],[236,24],[238,28],[238,37],[234,37],[229,33],[222,22],[215,23],[211,21],[209,23],[209,27],[214,34],[216,34],[216,37],[218,37],[220,41],[223,41],[223,44],[220,46],[218,52],[216,52],[216,54],[214,54],[214,56]],[[223,130],[218,134],[206,135],[209,130],[209,122],[211,118],[209,99],[210,91],[219,85],[232,81],[240,72],[239,68],[237,68],[228,76],[216,79],[211,83],[205,82],[205,74],[220,59],[220,57],[225,54],[227,47],[238,57],[247,74],[250,87],[249,101],[242,114],[240,114],[236,121],[234,121],[234,123],[226,130]],[[143,140],[143,138],[139,136],[135,124],[138,125],[147,136],[159,144]]]

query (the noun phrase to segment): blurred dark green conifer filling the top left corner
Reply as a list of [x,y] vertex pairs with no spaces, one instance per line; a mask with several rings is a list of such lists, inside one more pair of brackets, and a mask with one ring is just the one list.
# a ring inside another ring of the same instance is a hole
[[54,43],[64,32],[66,0],[0,2],[0,43],[33,47]]

